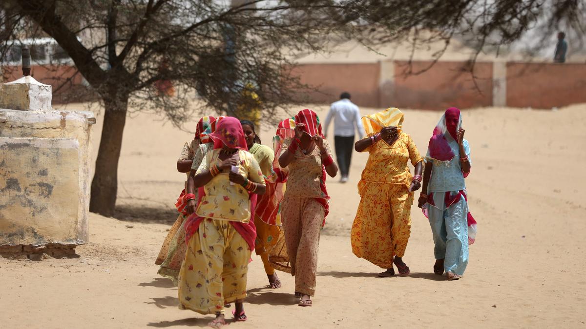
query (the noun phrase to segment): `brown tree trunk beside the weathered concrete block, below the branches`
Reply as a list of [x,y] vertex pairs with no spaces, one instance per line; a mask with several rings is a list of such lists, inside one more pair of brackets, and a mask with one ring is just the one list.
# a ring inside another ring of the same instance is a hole
[[104,125],[96,160],[96,173],[91,181],[90,211],[110,217],[114,215],[116,205],[118,158],[122,148],[128,96],[104,100],[104,106]]

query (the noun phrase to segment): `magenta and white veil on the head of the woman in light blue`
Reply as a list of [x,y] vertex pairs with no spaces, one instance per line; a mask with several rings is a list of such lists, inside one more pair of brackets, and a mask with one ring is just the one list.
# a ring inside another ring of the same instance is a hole
[[[457,117],[458,125],[453,129],[454,131],[448,131],[448,125],[446,124],[446,117]],[[458,129],[462,126],[462,114],[458,108],[448,108],[444,115],[442,115],[440,122],[435,126],[434,132],[430,138],[428,145],[428,156],[435,160],[449,161],[455,156],[454,151],[449,142],[455,142],[455,135]]]

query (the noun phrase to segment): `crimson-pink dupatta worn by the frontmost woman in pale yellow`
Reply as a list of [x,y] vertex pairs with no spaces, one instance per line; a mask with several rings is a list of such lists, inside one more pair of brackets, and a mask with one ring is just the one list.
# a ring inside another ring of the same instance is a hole
[[[244,132],[242,131],[242,125],[239,119],[227,116],[221,121],[217,122],[216,131],[209,134],[214,142],[214,149],[222,149],[224,145],[231,149],[248,150],[246,145],[246,139],[244,139]],[[199,187],[197,190],[199,203],[203,196],[205,196],[205,189]],[[254,226],[254,210],[257,203],[257,194],[249,193],[250,198],[250,218],[251,220],[247,223],[230,221],[230,224],[234,226],[236,231],[246,240],[250,250],[254,250],[254,240],[256,239],[256,227]],[[203,220],[209,220],[210,218],[199,217],[195,213],[191,214],[185,221],[185,243],[188,244],[189,240],[193,237],[193,234],[199,229],[199,224]]]

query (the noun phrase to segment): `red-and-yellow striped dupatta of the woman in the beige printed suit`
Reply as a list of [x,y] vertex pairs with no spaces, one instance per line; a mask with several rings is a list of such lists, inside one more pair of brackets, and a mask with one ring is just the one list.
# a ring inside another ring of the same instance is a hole
[[[295,126],[298,124],[305,125],[303,131],[308,133],[309,136],[319,135],[323,138],[322,125],[319,122],[319,117],[314,111],[311,111],[311,109],[304,109],[299,111],[299,113],[294,117],[281,121],[277,128],[277,136],[272,139],[273,147],[275,149],[275,160],[272,163],[272,167],[273,171],[277,175],[277,180],[280,182],[287,181],[289,174],[289,170],[287,168],[281,168],[279,166],[279,156],[281,155],[282,146],[285,139],[295,138]],[[319,187],[322,191],[323,197],[316,198],[316,200],[323,205],[323,208],[325,209],[325,216],[327,216],[329,213],[330,197],[328,196],[328,190],[326,189],[326,168],[323,165],[322,177],[319,180]],[[268,187],[268,189],[270,189],[270,187]],[[280,204],[283,196],[277,197],[280,198],[280,200],[277,200],[278,204]],[[325,217],[323,224],[325,224]]]

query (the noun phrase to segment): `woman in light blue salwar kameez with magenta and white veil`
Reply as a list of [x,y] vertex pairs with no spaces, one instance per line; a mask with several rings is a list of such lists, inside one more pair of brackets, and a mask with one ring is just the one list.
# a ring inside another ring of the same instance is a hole
[[425,159],[419,207],[430,221],[434,238],[434,273],[458,280],[468,265],[468,245],[476,222],[468,211],[464,178],[471,168],[459,109],[449,108],[434,129]]

